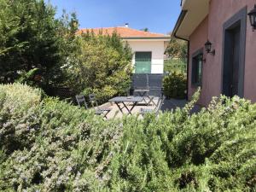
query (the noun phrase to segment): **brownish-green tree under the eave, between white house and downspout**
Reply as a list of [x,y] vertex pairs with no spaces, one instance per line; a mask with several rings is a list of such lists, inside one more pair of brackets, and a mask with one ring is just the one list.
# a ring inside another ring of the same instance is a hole
[[171,38],[170,43],[166,49],[166,55],[169,55],[171,58],[178,58],[186,61],[188,56],[187,52],[187,42],[181,39]]

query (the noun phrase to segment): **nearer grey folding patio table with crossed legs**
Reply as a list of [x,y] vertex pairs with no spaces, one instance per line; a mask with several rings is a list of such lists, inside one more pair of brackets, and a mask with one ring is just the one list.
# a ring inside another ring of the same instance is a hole
[[[142,101],[143,101],[143,96],[117,96],[117,97],[114,97],[113,99],[110,99],[108,102],[114,102],[119,108],[121,113],[124,113],[123,108],[126,108],[128,111],[128,114],[131,114],[132,109],[135,108],[137,103]],[[125,102],[132,103],[132,107],[129,109],[126,106]],[[120,103],[124,105],[123,108],[121,108],[121,106],[119,105]]]

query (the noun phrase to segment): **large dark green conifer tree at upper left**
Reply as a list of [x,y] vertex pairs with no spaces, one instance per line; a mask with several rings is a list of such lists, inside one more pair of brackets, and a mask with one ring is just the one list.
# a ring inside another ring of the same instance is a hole
[[72,50],[75,27],[68,25],[75,19],[56,20],[55,9],[44,0],[0,0],[0,82],[14,82],[38,68],[41,86],[58,83]]

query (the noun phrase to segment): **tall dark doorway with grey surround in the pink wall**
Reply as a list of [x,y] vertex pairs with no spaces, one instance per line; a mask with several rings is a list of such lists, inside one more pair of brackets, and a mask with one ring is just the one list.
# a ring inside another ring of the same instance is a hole
[[224,23],[223,94],[243,97],[246,9]]

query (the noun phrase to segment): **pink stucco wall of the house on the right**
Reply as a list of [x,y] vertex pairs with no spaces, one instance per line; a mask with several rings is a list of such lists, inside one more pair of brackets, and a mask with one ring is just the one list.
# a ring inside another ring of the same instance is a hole
[[[193,95],[196,87],[191,85],[191,61],[192,54],[197,49],[204,47],[207,38],[212,42],[216,55],[206,55],[207,62],[203,64],[201,105],[207,105],[212,96],[219,96],[222,92],[222,57],[223,57],[223,25],[238,11],[247,6],[247,12],[253,9],[255,0],[212,0],[210,2],[209,15],[195,29],[189,38],[190,58],[189,58],[189,97]],[[247,17],[247,40],[246,40],[246,60],[244,97],[256,102],[256,32]]]

